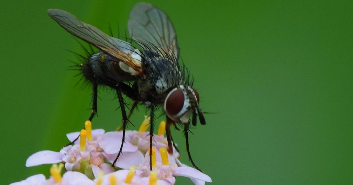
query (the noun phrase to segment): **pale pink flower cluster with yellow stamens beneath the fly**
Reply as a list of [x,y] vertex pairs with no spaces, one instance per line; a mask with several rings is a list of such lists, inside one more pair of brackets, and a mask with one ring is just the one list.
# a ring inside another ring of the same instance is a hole
[[[26,166],[53,164],[50,178],[43,174],[33,175],[11,185],[65,184],[65,185],[117,185],[117,184],[175,184],[176,176],[190,178],[195,184],[212,182],[211,178],[182,164],[179,153],[173,147],[173,154],[167,152],[167,139],[164,137],[165,122],[161,122],[158,134],[152,140],[152,170],[150,170],[149,132],[146,132],[149,117],[145,116],[139,131],[126,131],[122,153],[115,166],[111,166],[118,155],[122,131],[106,132],[91,129],[86,121],[81,132],[66,134],[70,141],[79,139],[73,145],[59,152],[39,151],[31,155]],[[59,163],[59,165],[57,164]],[[109,164],[110,163],[110,164]],[[61,176],[62,168],[66,172]]]

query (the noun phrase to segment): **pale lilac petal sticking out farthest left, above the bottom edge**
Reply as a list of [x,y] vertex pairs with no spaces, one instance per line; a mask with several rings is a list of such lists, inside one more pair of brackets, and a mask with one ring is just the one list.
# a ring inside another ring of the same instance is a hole
[[38,166],[40,164],[54,164],[59,163],[64,155],[59,152],[54,152],[50,150],[43,150],[36,152],[28,157],[26,161],[26,167]]

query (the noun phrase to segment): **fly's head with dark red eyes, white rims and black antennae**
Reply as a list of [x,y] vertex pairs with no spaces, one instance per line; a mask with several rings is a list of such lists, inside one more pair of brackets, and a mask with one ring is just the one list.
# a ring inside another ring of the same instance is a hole
[[199,108],[199,101],[200,97],[196,89],[180,85],[168,93],[163,108],[167,116],[175,122],[188,123],[190,115],[193,114],[192,124],[196,125],[198,114],[201,124],[204,125],[206,121]]

